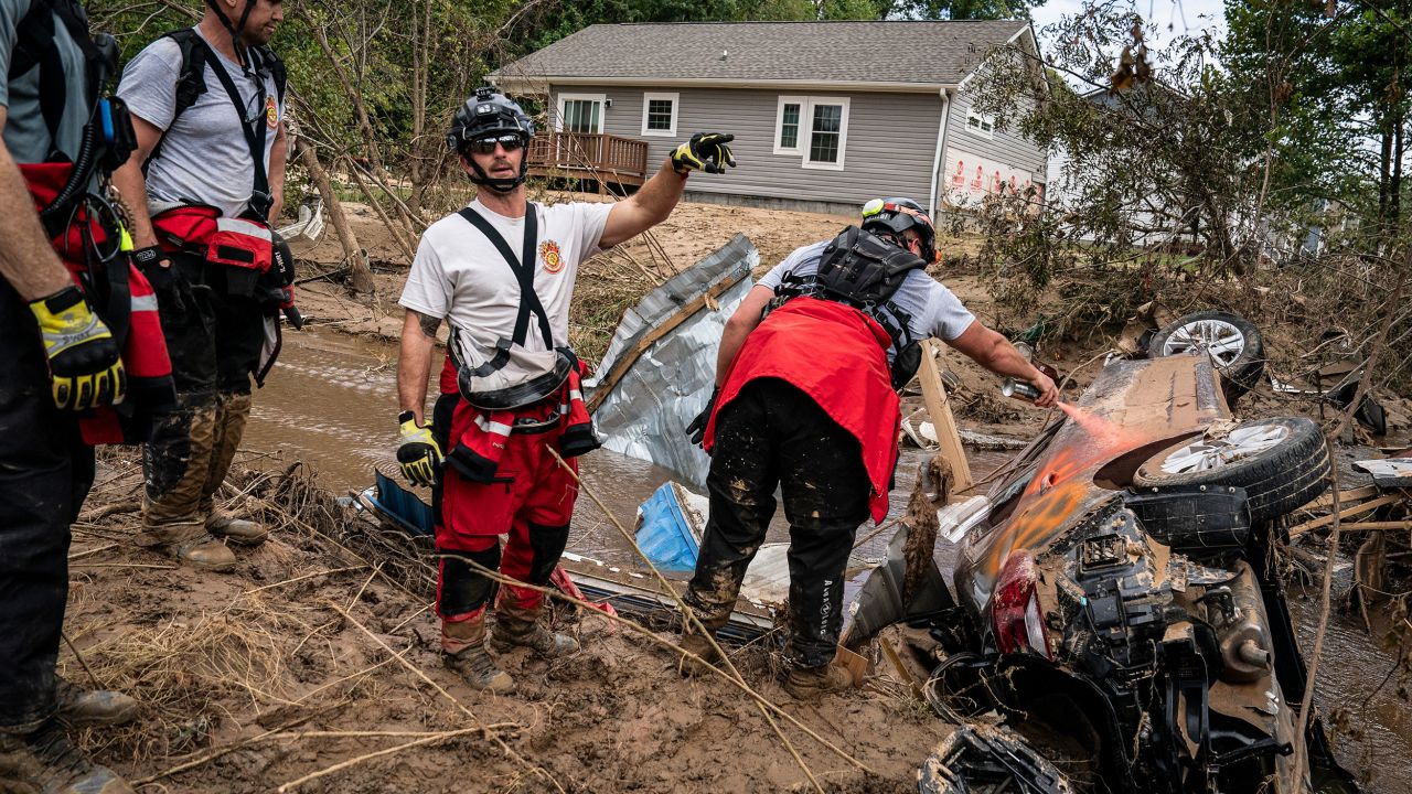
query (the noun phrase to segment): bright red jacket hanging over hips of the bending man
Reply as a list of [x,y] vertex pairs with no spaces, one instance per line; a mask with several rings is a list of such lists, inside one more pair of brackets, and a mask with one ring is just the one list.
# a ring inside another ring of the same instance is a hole
[[873,486],[873,520],[887,517],[888,482],[897,465],[901,401],[891,386],[887,332],[858,309],[798,297],[770,312],[736,353],[706,424],[702,446],[716,444],[720,410],[757,377],[778,377],[813,398],[853,434]]

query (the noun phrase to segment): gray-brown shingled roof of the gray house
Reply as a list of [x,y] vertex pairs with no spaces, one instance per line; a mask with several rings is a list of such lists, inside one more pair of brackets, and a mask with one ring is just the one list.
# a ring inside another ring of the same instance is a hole
[[[1029,23],[856,21],[592,25],[493,78],[955,85]],[[722,55],[726,54],[723,58]]]

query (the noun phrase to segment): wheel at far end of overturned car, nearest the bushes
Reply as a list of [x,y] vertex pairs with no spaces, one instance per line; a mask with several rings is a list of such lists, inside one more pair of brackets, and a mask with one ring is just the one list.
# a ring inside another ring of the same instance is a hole
[[1234,405],[1265,374],[1265,342],[1238,314],[1204,311],[1180,316],[1152,335],[1148,356],[1161,359],[1209,350],[1221,376],[1226,403]]

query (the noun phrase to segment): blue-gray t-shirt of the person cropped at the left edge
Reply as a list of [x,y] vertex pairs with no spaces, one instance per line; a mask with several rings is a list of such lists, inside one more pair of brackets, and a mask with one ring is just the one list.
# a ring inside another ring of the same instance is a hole
[[16,162],[45,162],[54,148],[72,160],[79,151],[89,110],[83,51],[69,37],[64,23],[55,17],[54,37],[65,72],[65,106],[59,120],[58,141],[54,141],[40,112],[40,68],[30,69],[14,82],[8,79],[10,58],[17,37],[16,25],[28,11],[30,0],[0,0],[0,105],[8,109],[4,146]]

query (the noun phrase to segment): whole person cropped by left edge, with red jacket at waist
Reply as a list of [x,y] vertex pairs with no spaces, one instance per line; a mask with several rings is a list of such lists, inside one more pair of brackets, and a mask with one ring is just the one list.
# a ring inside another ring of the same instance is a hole
[[[116,415],[114,405],[131,417],[148,387],[165,386],[171,397],[169,377],[160,377],[165,346],[141,305],[148,287],[119,244],[99,179],[126,157],[131,136],[121,107],[100,97],[116,59],[116,42],[89,34],[78,0],[0,0],[0,781],[10,784],[0,787],[7,791],[131,793],[79,752],[65,723],[126,722],[136,701],[79,689],[55,671],[69,524],[93,485],[88,434],[109,427],[103,418]],[[145,359],[124,366],[134,342],[144,346],[137,359]],[[144,380],[152,383],[134,387]]]

